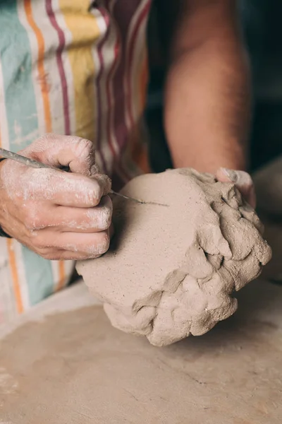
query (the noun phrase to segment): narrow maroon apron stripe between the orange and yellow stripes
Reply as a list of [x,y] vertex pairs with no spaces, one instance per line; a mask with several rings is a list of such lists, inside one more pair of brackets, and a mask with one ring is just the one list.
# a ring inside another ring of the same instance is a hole
[[51,25],[56,30],[59,37],[59,46],[56,49],[56,61],[59,69],[59,74],[61,78],[61,89],[63,94],[63,114],[65,119],[65,134],[68,136],[71,134],[71,123],[70,123],[70,114],[69,114],[69,106],[68,106],[68,84],[66,81],[66,73],[63,69],[63,60],[62,60],[62,52],[66,46],[66,38],[63,33],[63,30],[59,27],[54,11],[52,9],[51,0],[46,0],[46,11],[49,16]]

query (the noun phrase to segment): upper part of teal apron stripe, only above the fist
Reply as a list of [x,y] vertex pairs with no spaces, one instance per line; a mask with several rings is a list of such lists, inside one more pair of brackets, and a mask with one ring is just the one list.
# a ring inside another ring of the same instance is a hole
[[[18,20],[16,0],[0,1],[0,57],[10,148],[19,151],[34,141],[28,135],[38,128],[38,122],[31,75],[30,42],[25,28]],[[27,140],[19,144],[17,132]]]

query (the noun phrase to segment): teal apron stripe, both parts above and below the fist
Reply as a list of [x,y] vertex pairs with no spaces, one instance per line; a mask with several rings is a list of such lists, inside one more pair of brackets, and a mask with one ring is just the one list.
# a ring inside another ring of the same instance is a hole
[[[19,0],[18,4],[23,8],[23,1]],[[18,19],[16,0],[0,1],[0,59],[9,146],[12,151],[19,151],[34,141],[32,133],[35,134],[38,129],[38,119],[31,74],[30,42]],[[22,139],[20,143],[17,141],[19,138]],[[51,262],[38,257],[26,247],[23,247],[23,259],[30,303],[34,305],[54,288]]]

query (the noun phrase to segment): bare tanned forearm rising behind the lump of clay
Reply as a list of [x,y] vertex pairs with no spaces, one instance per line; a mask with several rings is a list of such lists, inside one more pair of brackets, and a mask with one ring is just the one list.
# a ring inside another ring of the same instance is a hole
[[221,166],[245,170],[249,126],[248,61],[233,28],[192,47],[180,45],[166,82],[173,165],[212,173]]

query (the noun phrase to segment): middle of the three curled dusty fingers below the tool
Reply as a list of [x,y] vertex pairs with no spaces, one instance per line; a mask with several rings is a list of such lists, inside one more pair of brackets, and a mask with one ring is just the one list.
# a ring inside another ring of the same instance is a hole
[[[56,206],[41,216],[39,228],[50,227],[59,232],[99,232],[108,230],[111,225],[113,206],[109,196],[102,197],[98,206],[94,208],[68,208]],[[51,216],[50,216],[51,215]]]

